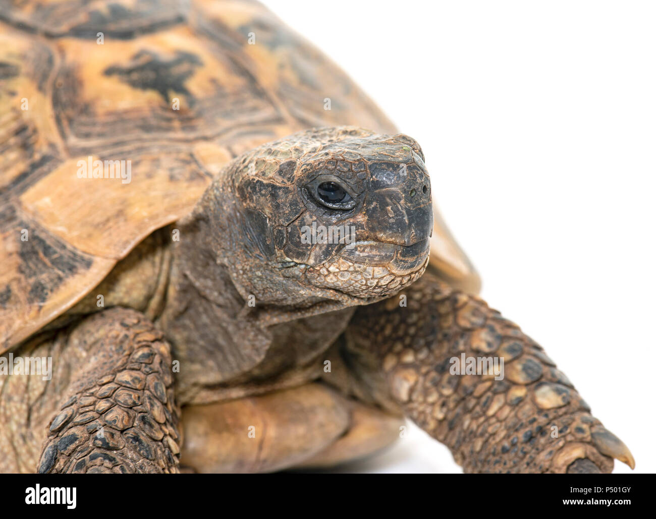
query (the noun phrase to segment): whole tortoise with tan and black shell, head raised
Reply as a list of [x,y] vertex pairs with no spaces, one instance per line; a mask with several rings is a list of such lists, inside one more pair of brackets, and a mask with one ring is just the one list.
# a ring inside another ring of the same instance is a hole
[[327,468],[406,417],[466,472],[634,466],[264,7],[0,0],[0,42],[1,471]]

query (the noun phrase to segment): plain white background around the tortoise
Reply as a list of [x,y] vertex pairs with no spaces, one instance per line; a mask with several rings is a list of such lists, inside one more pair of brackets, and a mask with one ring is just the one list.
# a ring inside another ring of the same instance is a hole
[[[656,4],[264,3],[419,141],[483,298],[655,472]],[[416,428],[342,470],[461,471]]]

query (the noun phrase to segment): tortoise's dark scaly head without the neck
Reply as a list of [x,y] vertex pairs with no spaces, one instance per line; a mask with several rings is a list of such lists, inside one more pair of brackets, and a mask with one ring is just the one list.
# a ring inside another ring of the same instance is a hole
[[285,280],[287,295],[363,304],[398,292],[428,263],[430,180],[405,135],[306,130],[236,159],[219,183],[216,205],[236,204],[229,219],[243,233],[231,247],[253,266],[247,292]]

